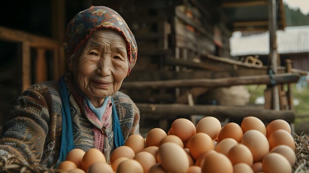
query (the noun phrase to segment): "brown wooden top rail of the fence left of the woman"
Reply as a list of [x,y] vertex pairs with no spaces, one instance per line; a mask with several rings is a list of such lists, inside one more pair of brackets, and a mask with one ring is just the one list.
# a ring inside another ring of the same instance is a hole
[[44,36],[28,34],[26,32],[0,27],[0,39],[12,42],[27,42],[31,47],[41,47],[45,49],[58,48],[58,42]]

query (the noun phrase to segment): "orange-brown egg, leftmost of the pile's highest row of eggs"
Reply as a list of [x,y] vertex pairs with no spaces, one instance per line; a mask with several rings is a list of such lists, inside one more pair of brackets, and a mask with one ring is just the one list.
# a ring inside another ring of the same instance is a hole
[[195,135],[195,126],[193,122],[185,118],[178,118],[172,123],[172,133],[181,138],[182,141],[187,141]]

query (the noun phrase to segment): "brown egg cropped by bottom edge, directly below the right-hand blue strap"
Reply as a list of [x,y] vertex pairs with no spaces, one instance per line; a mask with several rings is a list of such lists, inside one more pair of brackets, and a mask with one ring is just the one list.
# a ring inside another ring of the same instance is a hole
[[118,165],[116,173],[144,173],[144,170],[138,161],[128,159]]

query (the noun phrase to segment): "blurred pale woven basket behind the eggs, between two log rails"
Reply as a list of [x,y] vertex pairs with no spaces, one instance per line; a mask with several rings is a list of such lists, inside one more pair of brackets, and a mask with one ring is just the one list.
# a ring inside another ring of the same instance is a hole
[[245,105],[249,102],[250,94],[244,86],[235,85],[214,89],[209,97],[221,105]]

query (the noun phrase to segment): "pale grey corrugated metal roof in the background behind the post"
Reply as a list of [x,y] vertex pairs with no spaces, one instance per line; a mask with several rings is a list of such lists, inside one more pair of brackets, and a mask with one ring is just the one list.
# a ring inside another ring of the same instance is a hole
[[[276,32],[277,51],[279,54],[309,52],[309,26],[286,27]],[[241,36],[235,32],[230,38],[232,56],[268,55],[269,32],[256,35]]]

